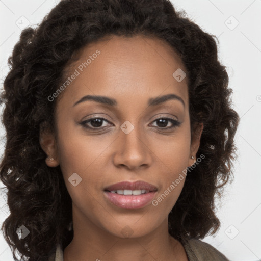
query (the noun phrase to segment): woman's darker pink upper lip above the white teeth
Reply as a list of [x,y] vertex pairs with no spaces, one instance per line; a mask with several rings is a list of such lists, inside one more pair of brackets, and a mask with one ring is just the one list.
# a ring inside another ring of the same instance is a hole
[[147,182],[144,181],[122,181],[116,184],[113,184],[109,187],[105,188],[105,191],[112,190],[148,190],[148,191],[156,191],[157,188]]

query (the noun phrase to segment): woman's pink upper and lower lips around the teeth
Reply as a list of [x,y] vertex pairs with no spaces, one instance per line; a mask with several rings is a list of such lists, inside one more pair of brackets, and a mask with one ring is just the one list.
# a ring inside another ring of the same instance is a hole
[[[141,195],[122,195],[111,193],[112,190],[147,190]],[[144,181],[128,182],[123,181],[105,188],[106,198],[114,205],[128,210],[135,210],[150,204],[158,189]]]

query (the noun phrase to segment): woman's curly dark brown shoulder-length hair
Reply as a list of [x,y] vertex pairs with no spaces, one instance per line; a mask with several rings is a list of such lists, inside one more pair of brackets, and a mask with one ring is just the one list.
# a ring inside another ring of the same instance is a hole
[[[204,124],[197,155],[205,158],[187,175],[169,214],[169,233],[178,240],[202,239],[220,227],[214,196],[221,198],[233,179],[239,116],[231,108],[232,91],[215,36],[168,0],[62,0],[35,29],[21,32],[1,93],[6,147],[0,177],[10,209],[2,230],[15,260],[16,249],[20,260],[46,260],[58,243],[65,248],[72,240],[72,201],[60,166],[45,164],[39,132],[43,124],[56,131],[57,99],[47,97],[60,86],[73,55],[110,35],[163,39],[186,66],[191,129]],[[16,233],[21,225],[30,231],[24,239]]]

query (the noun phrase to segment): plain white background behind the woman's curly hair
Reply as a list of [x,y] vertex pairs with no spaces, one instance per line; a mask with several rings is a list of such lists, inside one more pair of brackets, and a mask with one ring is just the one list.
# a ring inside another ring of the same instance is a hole
[[[39,23],[56,2],[0,0],[1,88],[8,72],[7,59],[20,28]],[[172,3],[177,9],[184,9],[204,31],[218,37],[220,60],[228,67],[229,85],[233,89],[234,109],[241,117],[236,135],[239,157],[234,165],[234,182],[226,187],[217,212],[222,226],[215,237],[203,241],[230,260],[261,260],[261,0],[172,0]],[[1,124],[0,135],[2,154],[5,140]],[[0,197],[1,225],[9,213],[4,195]],[[11,250],[0,234],[0,261],[11,260]]]

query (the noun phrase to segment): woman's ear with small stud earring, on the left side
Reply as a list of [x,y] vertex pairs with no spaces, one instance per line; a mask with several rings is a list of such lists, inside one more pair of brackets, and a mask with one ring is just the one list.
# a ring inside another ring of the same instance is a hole
[[45,159],[46,165],[49,167],[57,167],[59,161],[54,133],[45,128],[44,131],[42,129],[40,130],[39,136],[40,145],[47,155]]

